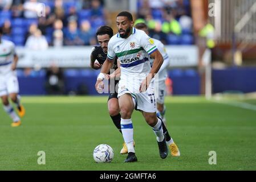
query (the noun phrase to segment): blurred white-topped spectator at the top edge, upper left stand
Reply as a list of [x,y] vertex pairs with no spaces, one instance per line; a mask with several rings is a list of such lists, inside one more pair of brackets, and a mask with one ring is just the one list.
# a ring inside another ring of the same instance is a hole
[[39,5],[37,0],[26,1],[23,5],[25,18],[38,18]]

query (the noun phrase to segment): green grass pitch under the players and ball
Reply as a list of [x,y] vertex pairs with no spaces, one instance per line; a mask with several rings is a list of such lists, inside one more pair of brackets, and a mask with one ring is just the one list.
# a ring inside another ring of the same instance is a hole
[[[161,159],[156,137],[141,113],[132,121],[137,163],[123,163],[123,138],[107,111],[107,97],[22,97],[26,115],[20,127],[0,109],[0,170],[255,170],[256,110],[206,101],[167,97],[166,120],[181,156]],[[245,101],[254,105],[255,100]],[[97,164],[94,148],[106,143],[112,163]],[[39,165],[38,151],[46,153]],[[210,165],[209,151],[217,164]]]

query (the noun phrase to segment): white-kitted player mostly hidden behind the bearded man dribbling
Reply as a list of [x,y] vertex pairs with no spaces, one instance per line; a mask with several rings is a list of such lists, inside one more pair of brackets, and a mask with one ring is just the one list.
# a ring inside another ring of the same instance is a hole
[[[145,23],[137,23],[135,28],[139,30],[143,30],[146,32],[147,35],[149,35],[148,32],[148,26]],[[159,69],[159,77],[158,79],[155,79],[155,85],[158,85],[157,93],[157,116],[161,117],[162,121],[164,122],[166,126],[166,119],[164,117],[165,114],[165,105],[164,105],[164,97],[166,95],[166,86],[165,86],[165,80],[167,78],[167,68],[169,66],[169,56],[166,52],[166,49],[164,47],[164,44],[160,42],[160,40],[152,38],[153,41],[156,44],[157,49],[159,49],[159,52],[161,53],[162,57],[164,58],[164,63],[162,63],[161,68]],[[153,65],[153,59],[151,59],[151,66]]]

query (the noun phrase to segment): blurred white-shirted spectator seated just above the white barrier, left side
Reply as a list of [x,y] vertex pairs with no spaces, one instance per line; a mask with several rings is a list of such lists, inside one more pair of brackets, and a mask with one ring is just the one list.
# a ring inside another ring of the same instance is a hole
[[45,50],[48,48],[48,43],[45,36],[38,29],[33,35],[30,35],[25,46],[31,50]]

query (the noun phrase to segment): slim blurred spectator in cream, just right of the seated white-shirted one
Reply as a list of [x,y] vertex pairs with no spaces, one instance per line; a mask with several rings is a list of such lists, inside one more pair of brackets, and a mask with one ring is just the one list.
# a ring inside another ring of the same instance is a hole
[[54,33],[53,33],[53,46],[62,47],[63,46],[63,23],[62,20],[57,19],[54,22]]

